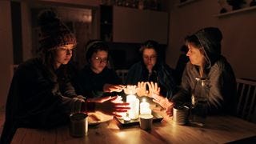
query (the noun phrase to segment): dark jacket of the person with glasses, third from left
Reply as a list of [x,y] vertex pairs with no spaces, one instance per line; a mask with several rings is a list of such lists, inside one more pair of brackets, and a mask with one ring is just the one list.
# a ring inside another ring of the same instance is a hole
[[176,83],[173,78],[174,70],[158,61],[152,71],[153,74],[149,77],[149,71],[144,62],[137,62],[131,66],[127,74],[126,84],[137,85],[138,82],[157,82],[158,86],[161,87],[160,93],[166,98],[172,98],[176,92]]

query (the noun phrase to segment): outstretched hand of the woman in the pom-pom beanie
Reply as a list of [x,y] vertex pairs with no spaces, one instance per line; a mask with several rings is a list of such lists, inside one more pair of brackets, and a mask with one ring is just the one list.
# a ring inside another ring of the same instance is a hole
[[103,114],[114,115],[116,117],[122,117],[121,114],[130,110],[129,103],[127,102],[114,102],[118,97],[106,98],[103,102],[96,102],[96,110],[101,111]]

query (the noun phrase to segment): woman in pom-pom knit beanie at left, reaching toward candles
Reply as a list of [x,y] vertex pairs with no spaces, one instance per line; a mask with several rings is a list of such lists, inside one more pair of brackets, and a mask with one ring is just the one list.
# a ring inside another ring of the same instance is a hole
[[44,10],[38,17],[41,29],[38,57],[18,66],[6,102],[2,144],[10,143],[18,127],[47,129],[67,124],[74,112],[99,110],[117,115],[128,103],[114,103],[117,97],[88,101],[75,94],[67,77],[76,38],[57,15]]

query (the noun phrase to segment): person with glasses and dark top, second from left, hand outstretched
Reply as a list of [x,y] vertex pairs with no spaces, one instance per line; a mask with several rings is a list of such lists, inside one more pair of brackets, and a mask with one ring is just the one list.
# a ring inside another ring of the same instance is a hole
[[87,65],[74,78],[74,87],[78,94],[90,98],[116,95],[122,92],[121,78],[114,70],[108,68],[109,46],[106,42],[91,40],[86,45]]

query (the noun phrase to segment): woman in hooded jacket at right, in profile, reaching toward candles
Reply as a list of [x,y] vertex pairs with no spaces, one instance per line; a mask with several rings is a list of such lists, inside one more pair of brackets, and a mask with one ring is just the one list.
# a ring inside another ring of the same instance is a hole
[[192,97],[192,93],[198,94],[194,89],[198,79],[203,80],[206,88],[203,97],[206,97],[208,114],[234,113],[236,81],[230,63],[221,54],[221,41],[222,32],[216,27],[206,27],[186,38],[190,62],[182,75],[181,90],[172,99],[154,95],[154,101],[166,108],[166,114],[172,115],[177,103],[190,102],[193,106],[197,102],[197,95]]

